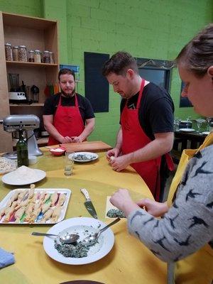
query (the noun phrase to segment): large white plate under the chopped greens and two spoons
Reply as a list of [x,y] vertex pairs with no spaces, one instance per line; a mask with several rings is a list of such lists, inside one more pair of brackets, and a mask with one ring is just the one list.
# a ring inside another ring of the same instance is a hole
[[[106,224],[97,219],[89,217],[77,217],[67,219],[58,224],[55,224],[51,229],[49,229],[48,234],[65,234],[67,232],[68,234],[78,233],[80,235],[79,241],[82,241],[82,239],[89,236],[89,234],[95,233],[99,229],[102,229],[104,226],[106,226]],[[87,232],[85,232],[85,230]],[[90,246],[87,257],[71,258],[63,256],[55,249],[54,239],[54,237],[44,237],[43,248],[45,252],[48,254],[48,256],[50,256],[50,258],[53,258],[55,261],[72,265],[82,265],[98,261],[99,259],[106,256],[114,245],[113,231],[108,228],[99,236],[99,242],[94,246]]]

